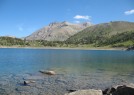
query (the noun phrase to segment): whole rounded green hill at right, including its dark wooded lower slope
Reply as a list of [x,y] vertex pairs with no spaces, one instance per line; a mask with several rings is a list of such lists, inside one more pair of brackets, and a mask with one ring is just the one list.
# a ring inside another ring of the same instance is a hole
[[[94,25],[84,29],[67,39],[67,44],[92,44],[93,46],[122,46],[132,45],[134,42],[134,23],[115,21]],[[127,45],[126,45],[127,43]]]

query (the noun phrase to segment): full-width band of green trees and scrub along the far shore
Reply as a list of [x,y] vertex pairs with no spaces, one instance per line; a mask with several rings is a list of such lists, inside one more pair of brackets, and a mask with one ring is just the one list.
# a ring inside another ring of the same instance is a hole
[[134,31],[127,31],[116,34],[111,37],[96,37],[81,40],[80,43],[68,41],[25,41],[19,38],[0,37],[0,46],[18,46],[18,47],[125,47],[134,46]]

